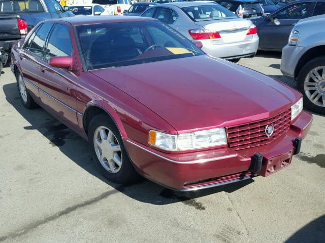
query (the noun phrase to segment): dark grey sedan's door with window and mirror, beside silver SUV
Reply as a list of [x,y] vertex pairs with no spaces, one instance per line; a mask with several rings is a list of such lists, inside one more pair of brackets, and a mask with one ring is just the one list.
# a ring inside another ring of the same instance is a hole
[[300,19],[312,15],[315,2],[290,4],[266,18],[258,30],[259,47],[264,49],[282,50],[288,43],[288,37],[294,25]]

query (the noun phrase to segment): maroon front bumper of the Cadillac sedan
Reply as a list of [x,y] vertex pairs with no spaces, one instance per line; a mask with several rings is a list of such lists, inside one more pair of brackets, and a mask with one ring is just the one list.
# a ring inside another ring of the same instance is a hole
[[170,154],[144,146],[129,138],[124,138],[124,144],[141,175],[170,189],[190,191],[256,176],[257,173],[250,170],[254,154],[261,153],[264,158],[269,159],[272,156],[285,155],[289,151],[292,153],[295,150],[293,140],[305,138],[311,123],[312,115],[302,111],[287,133],[277,140],[264,146],[237,151],[221,148]]

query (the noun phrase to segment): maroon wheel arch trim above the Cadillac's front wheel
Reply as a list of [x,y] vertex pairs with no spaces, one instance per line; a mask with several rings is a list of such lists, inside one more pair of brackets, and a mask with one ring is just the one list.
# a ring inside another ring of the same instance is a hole
[[[85,106],[85,108],[83,110],[82,126],[85,124],[85,114],[86,114],[87,110],[93,106],[99,107],[99,108],[103,109],[104,111],[106,111],[106,113],[112,118],[113,122],[115,123],[122,138],[127,137],[126,131],[122,124],[122,121],[119,118],[116,110],[112,106],[110,106],[107,102],[102,101],[102,100],[91,100],[87,103],[87,105]],[[84,126],[83,126],[83,130],[84,130]]]

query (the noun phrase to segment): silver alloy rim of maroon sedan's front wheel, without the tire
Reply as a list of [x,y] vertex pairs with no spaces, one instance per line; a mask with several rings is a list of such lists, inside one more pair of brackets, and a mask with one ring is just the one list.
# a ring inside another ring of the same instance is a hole
[[110,173],[117,173],[122,166],[121,147],[111,130],[101,126],[94,132],[95,153],[101,165]]

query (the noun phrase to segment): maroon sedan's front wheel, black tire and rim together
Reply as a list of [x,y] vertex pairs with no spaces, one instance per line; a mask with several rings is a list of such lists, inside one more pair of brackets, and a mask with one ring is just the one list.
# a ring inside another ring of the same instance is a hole
[[108,180],[125,184],[140,178],[128,157],[118,129],[106,114],[92,118],[88,141],[96,166]]

